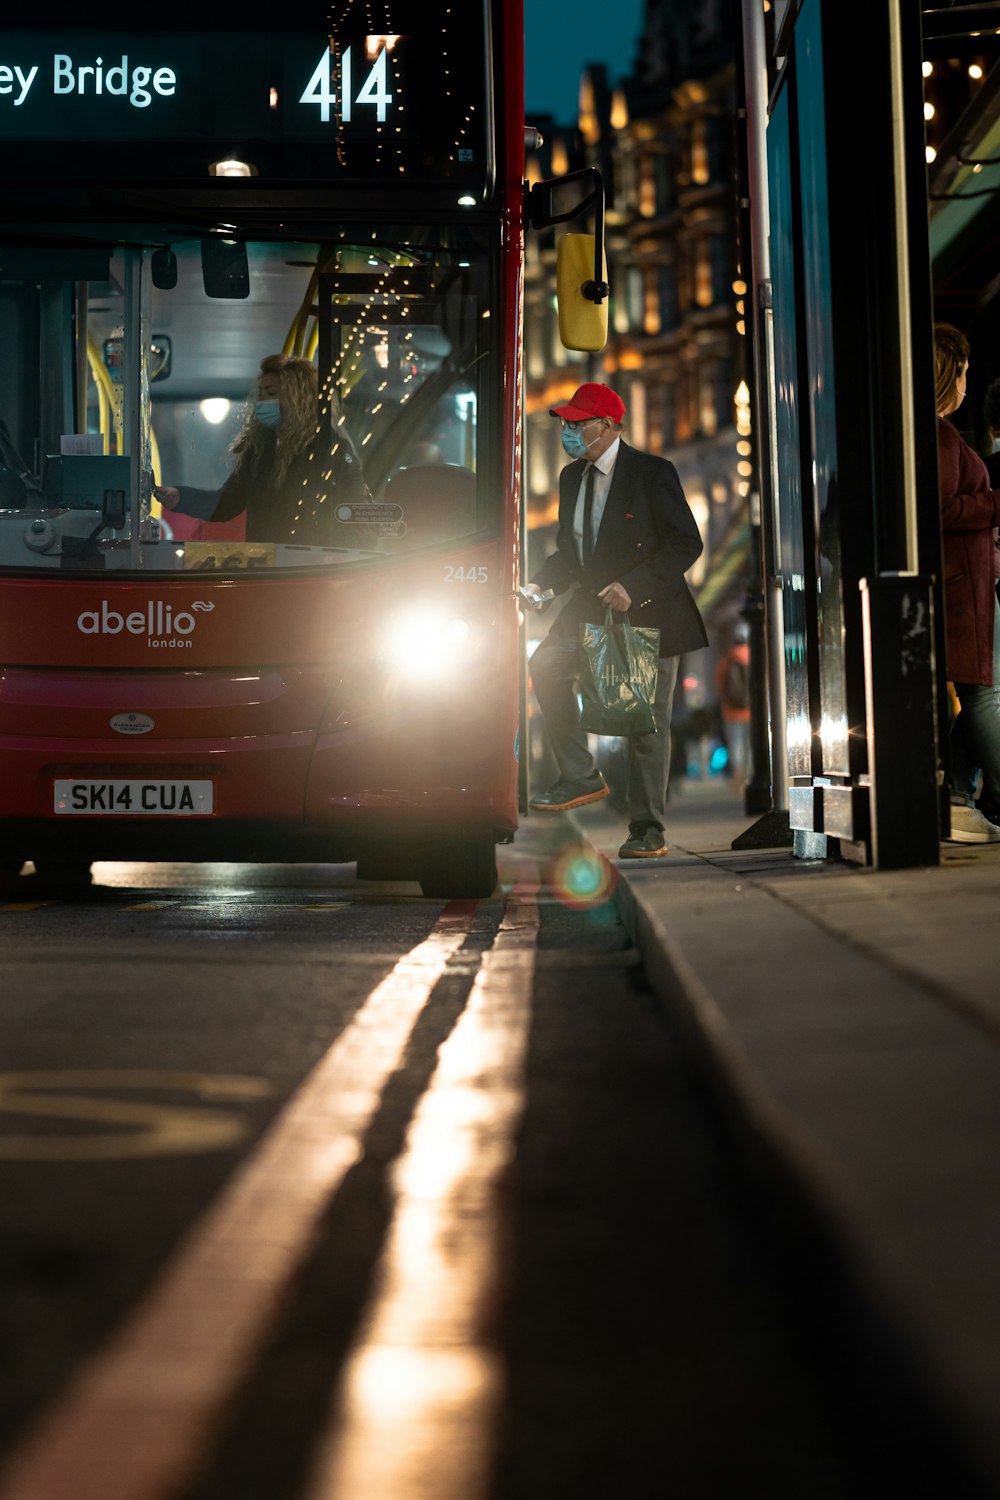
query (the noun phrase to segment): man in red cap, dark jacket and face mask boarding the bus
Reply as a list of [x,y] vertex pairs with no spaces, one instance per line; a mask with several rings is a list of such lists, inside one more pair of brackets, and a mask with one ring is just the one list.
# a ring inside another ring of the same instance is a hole
[[609,795],[580,728],[576,680],[580,626],[603,624],[607,606],[633,626],[660,630],[655,734],[628,738],[628,838],[624,860],[667,852],[664,814],[670,774],[670,711],[678,660],[708,645],[684,574],[702,552],[702,537],[673,464],[622,440],[625,402],[607,386],[580,386],[565,406],[562,447],[573,459],[559,476],[556,550],[532,579],[537,591],[573,590],[531,658],[531,680],[559,768],[535,812],[564,812]]

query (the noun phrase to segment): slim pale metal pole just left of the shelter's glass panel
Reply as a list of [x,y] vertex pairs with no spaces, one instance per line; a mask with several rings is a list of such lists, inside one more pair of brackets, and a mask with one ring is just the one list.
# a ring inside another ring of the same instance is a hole
[[760,0],[742,0],[747,99],[747,176],[754,294],[754,386],[760,434],[760,542],[763,554],[768,698],[771,704],[771,796],[775,812],[789,807],[789,754],[784,687],[784,609],[778,534],[778,454],[775,447],[774,326],[768,198],[768,64]]

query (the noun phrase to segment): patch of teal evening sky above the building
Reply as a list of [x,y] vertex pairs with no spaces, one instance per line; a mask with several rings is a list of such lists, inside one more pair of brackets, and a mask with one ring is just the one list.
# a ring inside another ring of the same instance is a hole
[[576,120],[580,72],[604,63],[618,82],[630,74],[645,0],[525,0],[525,106],[528,118]]

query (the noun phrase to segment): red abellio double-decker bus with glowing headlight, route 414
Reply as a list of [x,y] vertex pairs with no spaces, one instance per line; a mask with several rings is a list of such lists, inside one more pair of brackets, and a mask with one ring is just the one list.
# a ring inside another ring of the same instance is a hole
[[[486,896],[519,800],[520,4],[76,15],[0,33],[3,873],[357,860]],[[301,502],[219,519],[274,354],[316,370]]]

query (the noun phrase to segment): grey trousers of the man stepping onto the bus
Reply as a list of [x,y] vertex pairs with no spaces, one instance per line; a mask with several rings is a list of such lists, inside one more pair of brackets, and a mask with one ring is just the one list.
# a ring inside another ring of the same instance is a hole
[[[652,704],[657,734],[628,736],[630,824],[666,826],[670,714],[679,662],[679,657],[660,657],[657,696]],[[559,766],[561,782],[580,782],[595,770],[586,734],[580,728],[580,700],[576,692],[579,675],[580,648],[576,638],[558,628],[550,630],[531,658],[531,684]]]

